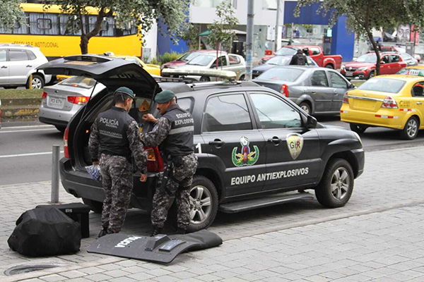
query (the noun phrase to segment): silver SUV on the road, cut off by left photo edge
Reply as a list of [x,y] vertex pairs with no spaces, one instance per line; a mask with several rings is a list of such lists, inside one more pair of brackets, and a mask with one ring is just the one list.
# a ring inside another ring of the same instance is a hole
[[[52,75],[37,69],[43,63],[47,63],[47,59],[38,47],[0,44],[0,87],[43,88],[52,80]],[[32,80],[30,75],[33,75]]]

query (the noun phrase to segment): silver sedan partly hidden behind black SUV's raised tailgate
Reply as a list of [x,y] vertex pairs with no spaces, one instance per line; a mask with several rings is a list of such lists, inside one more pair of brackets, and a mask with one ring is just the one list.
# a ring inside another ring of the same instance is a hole
[[99,82],[96,85],[95,80],[82,76],[72,76],[57,85],[47,86],[42,92],[38,119],[64,131],[72,116],[88,102],[92,92],[94,96],[105,88],[105,85]]

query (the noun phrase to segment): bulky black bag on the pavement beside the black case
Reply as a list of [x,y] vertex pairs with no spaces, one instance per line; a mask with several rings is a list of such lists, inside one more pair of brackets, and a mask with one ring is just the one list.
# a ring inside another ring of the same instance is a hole
[[31,257],[74,254],[81,246],[81,225],[59,209],[30,209],[20,215],[7,243]]

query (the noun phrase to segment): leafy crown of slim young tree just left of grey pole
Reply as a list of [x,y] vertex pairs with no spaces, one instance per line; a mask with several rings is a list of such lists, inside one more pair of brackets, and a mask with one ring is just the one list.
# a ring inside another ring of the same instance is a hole
[[222,1],[216,7],[216,16],[219,20],[213,20],[211,25],[208,25],[208,30],[211,30],[211,34],[208,35],[208,44],[216,46],[216,42],[220,42],[221,49],[230,49],[230,39],[237,39],[235,29],[239,21],[234,16],[234,10],[230,1]]

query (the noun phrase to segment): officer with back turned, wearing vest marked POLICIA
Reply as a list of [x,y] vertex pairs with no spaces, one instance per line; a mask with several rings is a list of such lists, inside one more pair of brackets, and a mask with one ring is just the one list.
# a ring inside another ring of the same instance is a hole
[[106,234],[119,233],[126,216],[133,188],[131,155],[145,182],[147,153],[140,141],[140,130],[134,118],[129,116],[134,92],[119,87],[114,92],[115,106],[98,115],[91,126],[88,148],[93,164],[99,164],[102,173],[105,201],[102,209],[102,230]]

